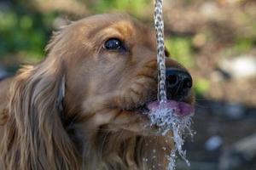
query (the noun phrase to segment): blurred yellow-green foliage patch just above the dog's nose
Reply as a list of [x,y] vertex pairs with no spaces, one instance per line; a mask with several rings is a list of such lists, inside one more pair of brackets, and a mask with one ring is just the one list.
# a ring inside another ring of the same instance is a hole
[[189,37],[166,38],[166,48],[170,51],[171,57],[181,64],[187,67],[194,65],[192,44]]

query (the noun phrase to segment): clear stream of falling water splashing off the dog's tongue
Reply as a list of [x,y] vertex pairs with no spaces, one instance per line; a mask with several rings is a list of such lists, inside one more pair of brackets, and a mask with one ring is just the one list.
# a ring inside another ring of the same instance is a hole
[[165,59],[165,44],[164,44],[164,21],[163,21],[163,0],[155,0],[154,5],[154,26],[156,32],[157,40],[157,62],[158,62],[158,100],[159,107],[150,111],[148,117],[151,120],[152,125],[157,125],[160,127],[162,135],[172,130],[173,141],[175,144],[174,149],[170,156],[167,156],[169,160],[169,165],[167,170],[174,170],[176,168],[176,153],[182,157],[184,161],[187,162],[189,166],[189,161],[186,159],[186,151],[182,149],[184,140],[183,134],[186,130],[192,135],[190,131],[191,116],[178,117],[175,114],[175,108],[170,109],[166,107],[168,102],[166,98],[166,59]]

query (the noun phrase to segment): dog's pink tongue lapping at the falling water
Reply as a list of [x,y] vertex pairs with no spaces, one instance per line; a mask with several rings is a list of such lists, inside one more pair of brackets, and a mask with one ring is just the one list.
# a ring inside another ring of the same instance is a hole
[[148,104],[148,109],[150,111],[155,111],[157,109],[170,109],[174,110],[177,116],[183,117],[194,113],[194,107],[192,105],[186,104],[184,102],[177,102],[174,100],[167,100],[165,104],[160,105],[159,101],[154,101]]

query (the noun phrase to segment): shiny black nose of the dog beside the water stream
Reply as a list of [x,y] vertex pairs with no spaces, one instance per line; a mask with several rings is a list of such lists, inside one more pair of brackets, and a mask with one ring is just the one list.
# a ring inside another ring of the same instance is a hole
[[167,99],[184,99],[192,88],[192,77],[188,71],[166,68]]

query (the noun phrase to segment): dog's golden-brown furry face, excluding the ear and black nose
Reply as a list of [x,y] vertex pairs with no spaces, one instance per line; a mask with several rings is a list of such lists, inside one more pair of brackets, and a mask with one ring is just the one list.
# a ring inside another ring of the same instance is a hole
[[[128,16],[108,14],[74,22],[60,34],[49,45],[49,58],[61,56],[66,65],[67,116],[78,113],[73,119],[93,129],[152,131],[143,112],[157,100],[154,31]],[[166,67],[185,71],[172,59]],[[181,100],[193,99],[188,92]]]

